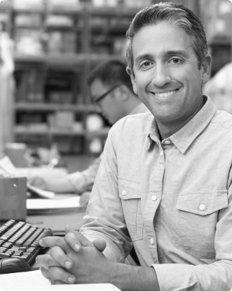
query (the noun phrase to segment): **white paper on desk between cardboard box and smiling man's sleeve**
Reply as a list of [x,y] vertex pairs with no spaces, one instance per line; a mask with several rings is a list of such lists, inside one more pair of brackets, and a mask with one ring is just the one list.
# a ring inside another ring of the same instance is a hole
[[27,199],[26,203],[27,209],[76,208],[80,207],[80,196],[52,200]]

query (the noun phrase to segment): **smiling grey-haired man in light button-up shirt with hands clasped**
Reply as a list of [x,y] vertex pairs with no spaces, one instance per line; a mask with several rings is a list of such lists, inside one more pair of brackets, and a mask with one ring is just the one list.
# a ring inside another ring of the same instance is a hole
[[[174,3],[144,8],[127,62],[151,114],[112,127],[81,233],[42,239],[52,249],[41,270],[54,283],[230,290],[232,117],[202,96],[211,56],[200,19]],[[140,266],[123,264],[133,246]]]

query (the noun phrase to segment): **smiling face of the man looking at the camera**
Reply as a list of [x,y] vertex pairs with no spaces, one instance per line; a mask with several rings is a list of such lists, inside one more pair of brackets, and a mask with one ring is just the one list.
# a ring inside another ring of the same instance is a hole
[[173,125],[189,118],[202,102],[202,83],[209,79],[204,66],[198,69],[189,35],[163,21],[141,28],[132,45],[135,93],[160,122]]

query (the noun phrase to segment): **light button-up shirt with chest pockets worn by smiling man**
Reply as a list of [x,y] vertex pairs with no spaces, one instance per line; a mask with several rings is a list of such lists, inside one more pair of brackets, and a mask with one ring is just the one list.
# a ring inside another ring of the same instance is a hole
[[81,228],[114,261],[134,245],[161,291],[232,288],[232,116],[204,101],[162,142],[151,114],[112,127]]

